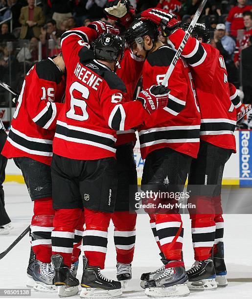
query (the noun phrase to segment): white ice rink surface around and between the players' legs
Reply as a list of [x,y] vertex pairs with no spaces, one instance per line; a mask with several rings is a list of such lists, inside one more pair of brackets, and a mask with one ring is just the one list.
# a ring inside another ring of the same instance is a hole
[[[0,252],[4,251],[18,235],[29,225],[32,203],[24,184],[4,184],[6,210],[12,219],[14,229],[10,235],[0,235]],[[183,215],[184,261],[186,269],[193,263],[193,251],[188,215]],[[216,291],[191,293],[188,298],[195,299],[240,299],[252,298],[252,215],[225,215],[225,261],[228,269],[229,285]],[[16,247],[0,260],[0,288],[24,288],[26,267],[30,251],[28,235]],[[106,270],[103,274],[115,278],[115,246],[113,245],[113,227],[109,229]],[[147,298],[139,286],[141,273],[149,272],[161,266],[158,248],[150,230],[147,215],[138,215],[137,240],[133,261],[133,279],[129,283],[123,298]],[[82,261],[78,278],[81,280]],[[13,297],[12,297],[13,298]],[[31,291],[31,298],[58,298],[53,293]],[[78,296],[70,298],[79,298]]]

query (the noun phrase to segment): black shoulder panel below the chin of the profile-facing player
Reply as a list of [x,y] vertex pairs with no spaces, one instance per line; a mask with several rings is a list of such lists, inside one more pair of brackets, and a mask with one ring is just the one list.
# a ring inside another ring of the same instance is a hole
[[147,56],[147,61],[151,66],[169,66],[173,60],[175,51],[169,46],[161,46],[158,50]]

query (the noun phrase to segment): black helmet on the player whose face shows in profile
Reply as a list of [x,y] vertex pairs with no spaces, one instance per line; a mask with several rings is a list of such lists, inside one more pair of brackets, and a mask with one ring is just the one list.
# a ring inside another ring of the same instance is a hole
[[143,38],[148,35],[154,44],[159,36],[158,26],[148,20],[135,20],[125,32],[125,41],[130,48],[134,48],[134,43],[142,44]]

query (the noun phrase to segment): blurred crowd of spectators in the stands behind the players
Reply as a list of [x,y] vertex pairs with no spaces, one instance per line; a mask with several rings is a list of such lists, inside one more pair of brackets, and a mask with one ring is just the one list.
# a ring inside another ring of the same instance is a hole
[[[159,7],[192,20],[201,0],[130,0],[137,12]],[[106,20],[106,0],[0,0],[0,80],[19,86],[25,72],[38,60],[60,53],[63,32]],[[8,20],[12,17],[12,25]],[[111,21],[114,25],[113,20]],[[244,103],[252,103],[252,1],[208,0],[199,21],[211,32],[211,45],[223,55],[229,81],[243,86]],[[163,43],[169,41],[160,36]],[[9,42],[12,41],[12,44]],[[16,65],[14,65],[16,64]],[[8,77],[11,71],[12,79]],[[10,82],[11,81],[11,82]],[[5,97],[6,98],[6,97]],[[0,106],[8,99],[1,99]]]

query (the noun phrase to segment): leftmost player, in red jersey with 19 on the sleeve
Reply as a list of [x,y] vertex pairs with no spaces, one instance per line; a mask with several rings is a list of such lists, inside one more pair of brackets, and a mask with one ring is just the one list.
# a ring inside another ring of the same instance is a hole
[[28,71],[2,150],[2,154],[14,158],[21,169],[34,202],[27,285],[45,292],[55,289],[54,271],[50,266],[54,215],[50,164],[56,118],[63,106],[66,87],[64,72],[61,56],[43,60]]

